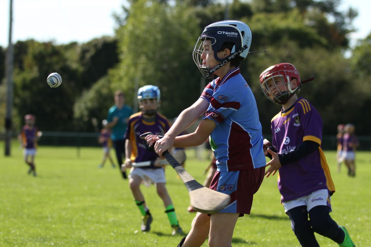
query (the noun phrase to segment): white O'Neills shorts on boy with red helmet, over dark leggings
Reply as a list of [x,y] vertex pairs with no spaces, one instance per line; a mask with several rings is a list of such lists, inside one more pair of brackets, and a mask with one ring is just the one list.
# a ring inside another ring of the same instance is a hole
[[296,198],[291,201],[284,201],[282,202],[283,207],[285,208],[285,213],[292,208],[296,208],[299,206],[305,206],[306,210],[309,212],[313,207],[323,205],[328,206],[331,210],[331,198],[328,194],[328,190],[317,190],[312,192],[309,195],[305,195],[300,198]]

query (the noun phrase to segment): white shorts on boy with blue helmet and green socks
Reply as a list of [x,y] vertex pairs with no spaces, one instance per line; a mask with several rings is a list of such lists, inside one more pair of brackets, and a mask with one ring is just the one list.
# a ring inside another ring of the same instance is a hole
[[137,175],[142,179],[142,184],[150,187],[151,184],[165,183],[165,170],[163,168],[142,169],[140,167],[132,167],[130,169],[129,178]]

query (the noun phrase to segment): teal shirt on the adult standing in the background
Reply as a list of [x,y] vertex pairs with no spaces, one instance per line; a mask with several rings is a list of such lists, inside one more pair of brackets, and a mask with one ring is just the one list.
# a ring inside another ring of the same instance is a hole
[[122,106],[121,109],[118,109],[116,105],[109,108],[107,122],[112,122],[115,117],[118,117],[116,125],[112,127],[112,141],[124,140],[128,119],[132,114],[133,110],[127,105]]

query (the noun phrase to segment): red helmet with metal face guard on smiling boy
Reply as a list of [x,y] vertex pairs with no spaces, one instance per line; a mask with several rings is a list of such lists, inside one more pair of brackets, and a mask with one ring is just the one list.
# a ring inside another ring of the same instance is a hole
[[[298,86],[292,89],[291,80],[296,79]],[[285,90],[280,90],[285,86]],[[298,70],[290,63],[273,65],[260,74],[260,87],[266,98],[273,103],[284,105],[300,91],[301,82]]]

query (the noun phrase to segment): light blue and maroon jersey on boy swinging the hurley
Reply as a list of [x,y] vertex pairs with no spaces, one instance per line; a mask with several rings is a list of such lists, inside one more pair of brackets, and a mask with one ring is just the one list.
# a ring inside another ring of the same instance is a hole
[[211,119],[217,125],[209,138],[217,171],[265,166],[262,125],[255,97],[239,67],[210,82],[200,98],[210,102],[203,119]]

